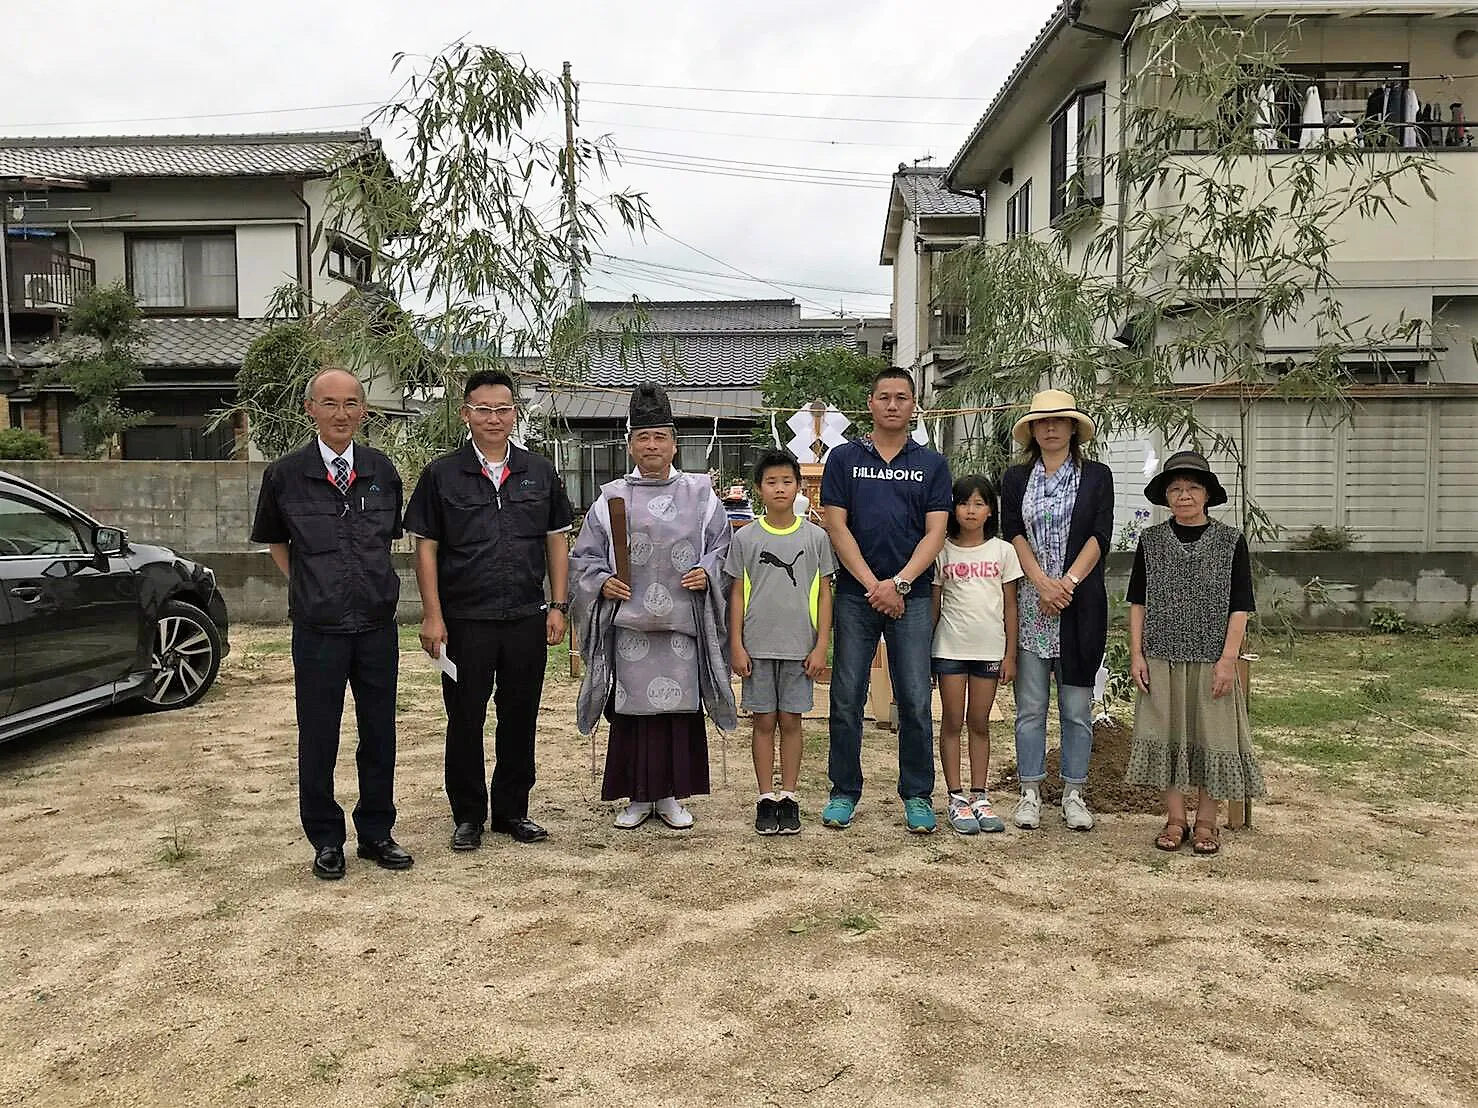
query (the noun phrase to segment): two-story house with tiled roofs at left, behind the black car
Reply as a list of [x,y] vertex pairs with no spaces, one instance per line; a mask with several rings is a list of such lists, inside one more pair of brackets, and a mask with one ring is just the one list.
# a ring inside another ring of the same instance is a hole
[[[123,458],[247,456],[239,421],[210,431],[211,414],[235,397],[273,290],[296,281],[333,304],[372,282],[365,244],[324,223],[334,171],[377,157],[368,131],[0,139],[9,424],[80,452],[74,402],[35,369],[55,362],[77,293],[123,281],[148,334],[126,403],[151,412],[124,433]],[[384,380],[370,403],[405,408]]]

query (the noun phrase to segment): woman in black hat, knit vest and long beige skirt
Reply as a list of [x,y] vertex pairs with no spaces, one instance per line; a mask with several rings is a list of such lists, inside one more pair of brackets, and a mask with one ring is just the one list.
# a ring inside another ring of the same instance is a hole
[[[1140,536],[1129,576],[1129,666],[1140,694],[1125,780],[1165,790],[1156,847],[1179,849],[1190,838],[1196,854],[1215,854],[1216,801],[1264,793],[1237,677],[1255,609],[1252,557],[1242,532],[1206,514],[1227,492],[1202,455],[1171,455],[1144,495],[1171,519]],[[1194,832],[1187,787],[1197,789]]]

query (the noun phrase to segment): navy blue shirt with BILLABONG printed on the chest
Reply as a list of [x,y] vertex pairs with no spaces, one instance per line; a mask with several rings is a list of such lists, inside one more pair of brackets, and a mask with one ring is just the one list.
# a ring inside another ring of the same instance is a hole
[[[912,439],[885,462],[871,439],[854,439],[826,456],[822,505],[847,510],[847,529],[879,581],[897,576],[924,539],[928,513],[955,510],[949,462]],[[928,595],[933,584],[931,564],[913,582],[913,595]],[[866,591],[840,560],[837,591]]]

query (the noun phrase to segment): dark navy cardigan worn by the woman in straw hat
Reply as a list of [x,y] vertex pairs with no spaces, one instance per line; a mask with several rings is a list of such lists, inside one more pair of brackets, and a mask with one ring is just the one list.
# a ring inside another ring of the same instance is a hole
[[[1067,561],[1072,566],[1083,553],[1088,539],[1098,539],[1098,564],[1073,591],[1073,603],[1063,612],[1063,684],[1091,687],[1108,644],[1108,589],[1104,569],[1113,542],[1113,471],[1103,462],[1082,462],[1077,479],[1077,501],[1067,526]],[[1001,538],[1011,542],[1017,535],[1027,538],[1021,519],[1021,501],[1030,465],[1012,465],[1001,477]],[[1030,541],[1030,539],[1029,539]]]

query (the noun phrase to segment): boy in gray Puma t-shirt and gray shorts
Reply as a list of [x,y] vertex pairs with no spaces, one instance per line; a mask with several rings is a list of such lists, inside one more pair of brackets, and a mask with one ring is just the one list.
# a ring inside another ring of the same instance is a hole
[[[780,451],[754,467],[764,516],[740,527],[729,544],[724,576],[732,579],[729,649],[743,678],[742,705],[754,714],[754,773],[760,782],[754,829],[795,835],[801,807],[801,717],[811,709],[814,681],[826,669],[831,643],[831,541],[795,516],[801,467]],[[780,731],[780,792],[774,792],[774,733]]]

